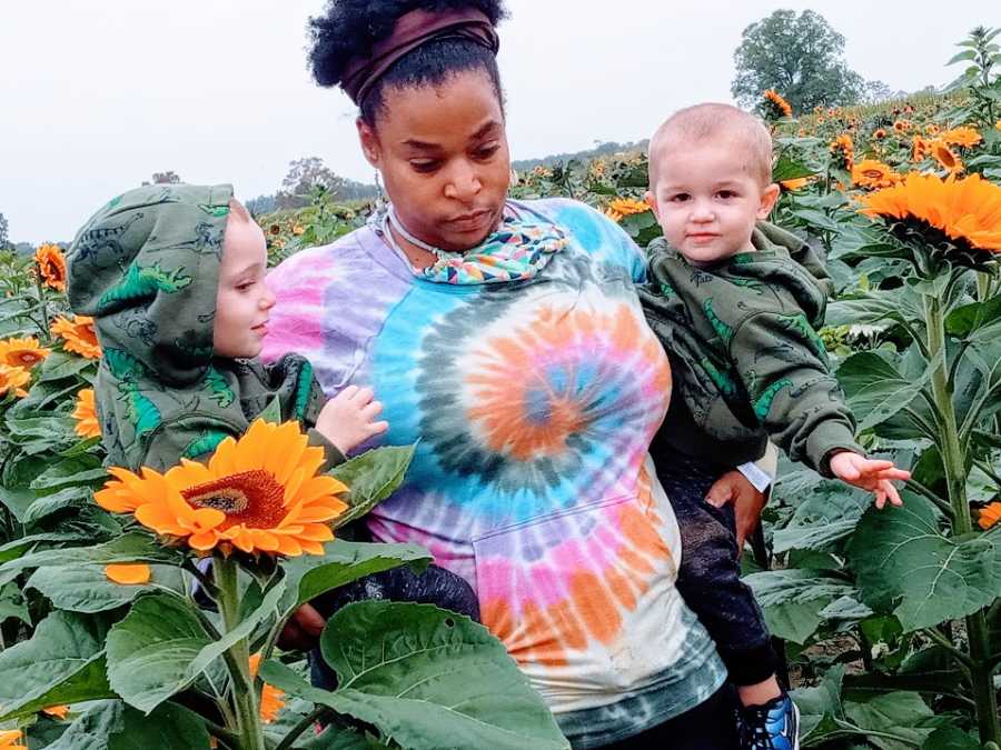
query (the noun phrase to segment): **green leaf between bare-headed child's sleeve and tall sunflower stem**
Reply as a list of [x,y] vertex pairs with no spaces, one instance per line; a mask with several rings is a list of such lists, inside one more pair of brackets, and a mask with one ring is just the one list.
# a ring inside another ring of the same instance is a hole
[[910,404],[928,381],[931,369],[919,379],[905,379],[879,354],[864,351],[849,357],[838,368],[838,381],[848,404],[861,419],[858,430],[885,421]]

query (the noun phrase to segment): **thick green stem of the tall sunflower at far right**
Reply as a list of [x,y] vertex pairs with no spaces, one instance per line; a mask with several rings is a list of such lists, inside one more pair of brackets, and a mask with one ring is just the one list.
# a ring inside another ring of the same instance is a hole
[[[967,462],[960,442],[952,389],[949,386],[947,362],[939,357],[945,349],[945,316],[942,300],[924,296],[924,322],[928,327],[928,350],[932,362],[931,384],[935,407],[939,410],[939,451],[945,470],[945,486],[952,504],[952,531],[955,536],[971,533],[973,520],[967,500]],[[970,682],[977,704],[977,723],[981,743],[1001,742],[1001,723],[998,720],[998,699],[994,692],[990,638],[983,611],[967,617],[967,637],[970,648]]]

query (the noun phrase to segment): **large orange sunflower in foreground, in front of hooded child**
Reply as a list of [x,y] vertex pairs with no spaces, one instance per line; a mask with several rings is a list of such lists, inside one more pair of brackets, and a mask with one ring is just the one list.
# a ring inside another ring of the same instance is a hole
[[310,447],[298,422],[256,420],[239,440],[226,438],[208,464],[181,459],[161,474],[117,467],[95,500],[199,552],[323,554],[334,538],[325,523],[347,510],[336,496],[347,488],[317,476],[324,450]]

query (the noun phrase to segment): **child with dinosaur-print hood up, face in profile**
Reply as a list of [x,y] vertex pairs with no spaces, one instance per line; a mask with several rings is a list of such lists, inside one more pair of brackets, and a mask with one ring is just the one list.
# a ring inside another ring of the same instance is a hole
[[[181,458],[208,459],[276,398],[281,421],[298,420],[326,449],[326,469],[388,427],[370,389],[348,387],[327,401],[305,358],[257,359],[275,297],[265,286],[264,234],[230,186],[130,190],[85,224],[67,261],[70,306],[93,317],[101,346],[95,397],[109,466],[166,471]],[[469,584],[437,566],[335,589],[324,611],[360,599],[433,603],[479,619]],[[324,626],[305,604],[283,642],[310,648]],[[331,687],[323,659],[311,661],[318,683]]]

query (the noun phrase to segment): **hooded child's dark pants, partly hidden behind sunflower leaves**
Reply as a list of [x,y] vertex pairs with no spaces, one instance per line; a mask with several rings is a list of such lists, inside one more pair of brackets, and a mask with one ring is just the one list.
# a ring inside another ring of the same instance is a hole
[[[438,566],[428,566],[423,573],[415,573],[404,566],[366,576],[334,589],[310,603],[329,620],[341,607],[368,599],[435,604],[479,622],[479,601],[473,587],[464,578]],[[337,676],[327,667],[319,648],[309,653],[309,680],[315,687],[325,690],[337,687]]]

